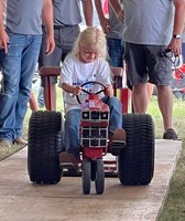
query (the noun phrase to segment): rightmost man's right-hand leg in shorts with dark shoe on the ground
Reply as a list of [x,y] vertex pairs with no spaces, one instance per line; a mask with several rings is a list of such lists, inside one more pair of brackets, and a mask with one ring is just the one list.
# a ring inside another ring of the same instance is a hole
[[177,135],[173,129],[173,96],[171,88],[172,63],[168,57],[159,56],[159,52],[166,46],[148,46],[148,66],[150,82],[156,85],[157,103],[163,117],[164,139],[177,139]]

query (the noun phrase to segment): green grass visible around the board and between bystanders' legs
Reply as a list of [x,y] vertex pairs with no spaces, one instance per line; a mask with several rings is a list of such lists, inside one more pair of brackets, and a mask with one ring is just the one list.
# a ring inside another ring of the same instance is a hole
[[[63,110],[63,102],[59,99],[62,93],[58,92],[58,106],[57,109]],[[163,135],[163,123],[162,117],[157,107],[156,96],[153,96],[148,113],[152,115],[155,125],[156,138],[162,138]],[[24,120],[24,137],[28,136],[28,125],[31,110],[28,109],[26,117]],[[185,220],[185,101],[177,99],[174,97],[174,109],[173,109],[173,122],[174,128],[178,136],[182,138],[182,154],[177,161],[176,170],[171,179],[171,186],[168,196],[166,197],[163,210],[159,215],[159,221],[184,221]],[[14,154],[20,149],[19,146],[13,145],[13,148],[0,149],[0,160]]]

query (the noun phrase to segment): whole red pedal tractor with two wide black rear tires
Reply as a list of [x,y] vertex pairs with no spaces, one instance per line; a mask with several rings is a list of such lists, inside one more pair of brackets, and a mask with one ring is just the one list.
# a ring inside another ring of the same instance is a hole
[[[46,76],[51,76],[51,72],[57,75],[59,69],[43,67],[41,72]],[[86,90],[84,92],[89,94],[89,98],[81,103],[79,131],[81,164],[78,175],[81,176],[83,192],[89,194],[90,183],[95,181],[96,192],[104,193],[105,177],[109,175],[117,176],[122,185],[149,185],[154,172],[152,117],[148,114],[123,114],[122,130],[126,136],[120,136],[120,133],[117,136],[116,131],[109,151],[109,107],[98,97],[101,91],[96,94]],[[32,113],[28,144],[28,171],[32,182],[57,183],[65,176],[58,159],[59,152],[64,150],[64,133],[62,113]]]

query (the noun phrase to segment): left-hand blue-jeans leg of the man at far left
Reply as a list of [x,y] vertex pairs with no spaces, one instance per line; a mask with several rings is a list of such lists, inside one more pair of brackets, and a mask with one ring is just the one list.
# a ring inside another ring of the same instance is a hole
[[[10,38],[9,53],[6,54],[2,64],[3,93],[0,94],[0,140],[10,143],[15,137],[15,105],[19,93],[19,80],[21,70],[22,49],[14,49]],[[14,54],[17,53],[17,56]]]

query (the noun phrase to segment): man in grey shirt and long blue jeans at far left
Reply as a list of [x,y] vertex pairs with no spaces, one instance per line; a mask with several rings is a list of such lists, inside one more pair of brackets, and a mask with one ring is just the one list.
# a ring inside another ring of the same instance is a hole
[[4,94],[0,94],[0,145],[22,138],[32,76],[42,39],[42,20],[46,27],[46,53],[53,52],[52,0],[0,1],[0,48],[3,49],[2,73]]

